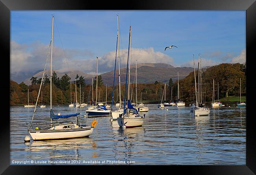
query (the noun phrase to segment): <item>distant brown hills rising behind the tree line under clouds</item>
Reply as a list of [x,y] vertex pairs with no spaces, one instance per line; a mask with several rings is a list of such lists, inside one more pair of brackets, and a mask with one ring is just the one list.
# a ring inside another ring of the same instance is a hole
[[[175,82],[178,79],[179,72],[179,79],[183,79],[187,75],[189,75],[190,72],[193,72],[193,68],[190,67],[174,67],[167,63],[143,63],[143,64],[137,64],[137,83],[154,83],[155,81],[162,82],[162,83],[169,83],[169,79],[172,78],[173,82]],[[60,70],[54,70],[59,77],[63,76],[65,73],[68,74],[71,77],[71,80],[74,81],[74,78],[76,77],[76,74],[78,76],[84,76],[85,82],[87,84],[91,84],[91,78],[95,77],[95,75],[91,74],[85,74],[82,71],[70,71],[70,72],[60,72]],[[118,69],[116,70],[116,76],[115,76],[115,84],[118,84]],[[46,72],[47,76],[49,77],[50,71],[48,70]],[[121,83],[123,84],[125,82],[125,76],[126,76],[126,67],[120,68],[120,78]],[[39,72],[33,77],[41,78],[43,75],[43,72]],[[106,72],[104,74],[101,74],[104,84],[107,85],[113,85],[113,75],[114,71]],[[131,83],[135,82],[135,65],[130,66],[130,81]],[[30,78],[26,79],[24,81],[27,85],[31,85]]]

